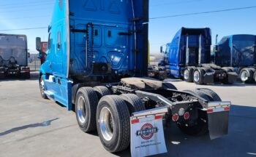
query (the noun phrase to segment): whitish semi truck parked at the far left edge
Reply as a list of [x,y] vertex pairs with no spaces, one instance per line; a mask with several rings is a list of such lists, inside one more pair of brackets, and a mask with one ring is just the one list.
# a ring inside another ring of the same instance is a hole
[[0,34],[0,79],[6,76],[30,78],[26,35]]

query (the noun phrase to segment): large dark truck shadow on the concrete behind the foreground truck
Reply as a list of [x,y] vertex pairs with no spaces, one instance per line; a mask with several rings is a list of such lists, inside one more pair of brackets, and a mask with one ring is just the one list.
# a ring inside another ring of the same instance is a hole
[[[216,140],[208,134],[191,137],[183,134],[176,124],[165,129],[167,153],[157,156],[256,156],[256,105],[232,105],[229,132]],[[130,156],[129,149],[116,156]]]

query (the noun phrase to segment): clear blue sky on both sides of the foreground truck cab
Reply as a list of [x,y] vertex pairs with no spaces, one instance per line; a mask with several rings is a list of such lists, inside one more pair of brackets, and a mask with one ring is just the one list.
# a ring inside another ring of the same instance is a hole
[[[0,0],[0,3],[0,30],[5,30],[48,26],[54,0]],[[150,17],[162,17],[251,6],[256,6],[255,0],[150,0],[149,9]],[[159,53],[159,47],[170,42],[181,27],[209,27],[213,39],[217,33],[220,39],[222,36],[236,33],[256,34],[255,19],[256,8],[150,20],[149,41],[151,53]],[[31,53],[37,53],[35,50],[35,38],[37,36],[45,41],[48,39],[47,29],[1,31],[0,33],[26,34]]]

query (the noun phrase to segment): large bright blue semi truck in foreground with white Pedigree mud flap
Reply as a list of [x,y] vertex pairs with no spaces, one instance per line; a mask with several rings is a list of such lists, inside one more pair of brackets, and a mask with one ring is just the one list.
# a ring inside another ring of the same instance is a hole
[[[179,91],[145,78],[148,0],[58,0],[48,31],[39,73],[42,97],[74,107],[80,129],[97,130],[109,152],[130,145],[138,156],[159,153],[157,141],[164,139],[159,119],[187,134],[209,132],[211,139],[227,134],[229,101],[210,89]],[[40,44],[37,38],[37,48]]]

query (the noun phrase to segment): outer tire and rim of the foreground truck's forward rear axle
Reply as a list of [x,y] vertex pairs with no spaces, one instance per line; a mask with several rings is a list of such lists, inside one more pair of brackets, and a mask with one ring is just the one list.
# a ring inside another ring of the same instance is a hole
[[83,132],[96,130],[98,97],[91,87],[81,87],[75,97],[75,115]]

